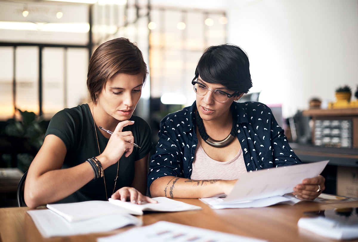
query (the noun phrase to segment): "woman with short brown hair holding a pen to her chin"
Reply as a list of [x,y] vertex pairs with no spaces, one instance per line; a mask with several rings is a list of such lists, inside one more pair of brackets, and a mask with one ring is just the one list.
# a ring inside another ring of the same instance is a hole
[[143,195],[153,147],[150,127],[132,115],[146,75],[142,53],[128,39],[112,39],[96,49],[87,75],[92,103],[51,119],[28,171],[28,207],[109,197],[156,202]]

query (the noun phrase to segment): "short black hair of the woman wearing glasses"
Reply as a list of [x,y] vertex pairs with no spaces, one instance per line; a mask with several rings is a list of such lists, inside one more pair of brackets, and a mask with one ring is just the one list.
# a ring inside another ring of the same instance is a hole
[[219,83],[229,90],[247,93],[252,87],[250,64],[247,54],[234,44],[211,46],[200,57],[195,79]]

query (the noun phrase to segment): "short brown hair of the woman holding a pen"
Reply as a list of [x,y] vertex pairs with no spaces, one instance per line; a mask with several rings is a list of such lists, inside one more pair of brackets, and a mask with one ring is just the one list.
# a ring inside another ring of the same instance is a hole
[[101,44],[89,60],[87,88],[93,103],[97,104],[96,92],[117,73],[137,75],[143,73],[143,84],[148,71],[140,49],[126,38],[111,39]]

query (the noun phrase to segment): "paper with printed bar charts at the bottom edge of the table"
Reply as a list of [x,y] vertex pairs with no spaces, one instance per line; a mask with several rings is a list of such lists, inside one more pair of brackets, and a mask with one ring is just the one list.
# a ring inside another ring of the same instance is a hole
[[97,242],[146,241],[146,242],[188,242],[188,241],[240,241],[264,242],[261,239],[196,228],[183,224],[159,221],[154,224],[132,228],[115,236],[98,238]]

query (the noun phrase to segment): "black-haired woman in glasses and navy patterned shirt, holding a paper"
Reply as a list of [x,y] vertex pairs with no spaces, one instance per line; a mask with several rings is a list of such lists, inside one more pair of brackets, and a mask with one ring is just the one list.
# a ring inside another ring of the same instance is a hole
[[[248,57],[240,47],[209,47],[192,84],[193,105],[160,122],[147,181],[152,197],[229,194],[246,172],[302,163],[269,107],[236,102],[252,87]],[[324,178],[305,179],[294,190],[314,199],[324,190]]]

